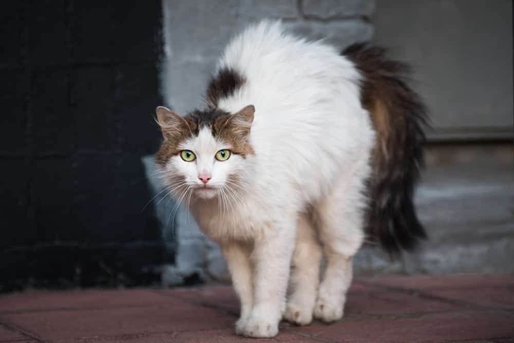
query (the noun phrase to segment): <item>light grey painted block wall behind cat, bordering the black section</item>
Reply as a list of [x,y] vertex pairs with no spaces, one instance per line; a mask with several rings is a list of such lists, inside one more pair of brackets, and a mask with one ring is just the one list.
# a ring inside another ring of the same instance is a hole
[[[343,49],[372,38],[370,17],[376,6],[375,0],[164,0],[162,4],[162,96],[166,105],[182,115],[203,105],[206,83],[223,48],[247,25],[265,18],[281,19],[293,32],[313,40],[327,39]],[[162,213],[172,211],[173,204],[166,204],[161,202],[157,210],[164,206]],[[186,210],[178,211],[172,223],[164,216],[161,222],[164,236],[177,244],[176,263],[164,269],[164,284],[191,278],[227,279],[219,249]]]

